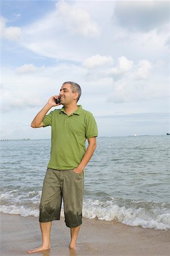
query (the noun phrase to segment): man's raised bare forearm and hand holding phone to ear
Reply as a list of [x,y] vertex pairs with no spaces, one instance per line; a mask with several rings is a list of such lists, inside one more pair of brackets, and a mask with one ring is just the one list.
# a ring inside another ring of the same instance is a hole
[[49,109],[51,109],[53,106],[59,106],[60,104],[56,104],[55,99],[58,98],[58,96],[52,96],[49,98],[47,104],[45,104],[44,108],[40,110],[40,112],[35,116],[34,120],[31,123],[32,128],[40,128],[44,126],[43,119]]

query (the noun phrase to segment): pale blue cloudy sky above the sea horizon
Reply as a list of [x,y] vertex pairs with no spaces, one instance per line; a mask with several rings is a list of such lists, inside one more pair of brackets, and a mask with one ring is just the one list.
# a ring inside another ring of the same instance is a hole
[[50,138],[30,124],[65,81],[99,137],[170,133],[169,14],[170,1],[2,0],[1,139]]

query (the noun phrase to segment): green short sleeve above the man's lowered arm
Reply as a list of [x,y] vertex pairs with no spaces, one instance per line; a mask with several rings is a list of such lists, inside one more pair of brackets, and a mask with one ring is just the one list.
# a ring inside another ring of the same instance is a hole
[[86,118],[86,138],[92,138],[98,136],[97,123],[92,113],[88,114]]

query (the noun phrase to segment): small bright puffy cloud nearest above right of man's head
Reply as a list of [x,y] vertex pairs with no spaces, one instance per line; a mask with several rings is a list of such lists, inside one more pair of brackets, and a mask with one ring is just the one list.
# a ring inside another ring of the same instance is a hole
[[86,69],[94,69],[111,64],[113,64],[113,58],[111,56],[101,56],[97,54],[83,61],[82,67]]

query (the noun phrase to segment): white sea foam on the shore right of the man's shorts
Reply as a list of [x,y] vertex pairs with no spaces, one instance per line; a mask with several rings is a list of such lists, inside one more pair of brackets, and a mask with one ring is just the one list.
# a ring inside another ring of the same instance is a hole
[[[164,209],[165,210],[165,209]],[[113,201],[101,203],[99,200],[88,200],[84,203],[83,216],[99,220],[118,221],[129,226],[142,226],[167,230],[170,229],[170,213],[161,214],[162,209],[146,210],[119,207]]]

